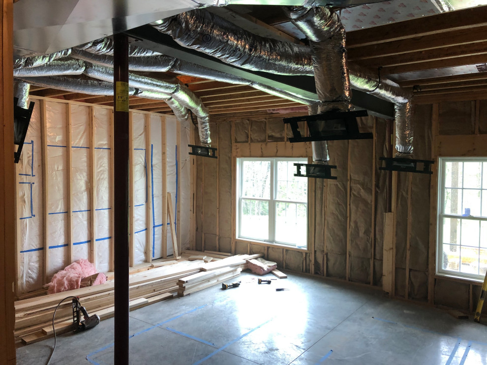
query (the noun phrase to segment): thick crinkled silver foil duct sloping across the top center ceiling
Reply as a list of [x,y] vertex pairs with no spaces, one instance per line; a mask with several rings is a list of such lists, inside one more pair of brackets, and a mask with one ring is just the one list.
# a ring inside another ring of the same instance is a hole
[[206,10],[192,10],[152,23],[184,47],[253,71],[312,75],[308,48],[264,38]]

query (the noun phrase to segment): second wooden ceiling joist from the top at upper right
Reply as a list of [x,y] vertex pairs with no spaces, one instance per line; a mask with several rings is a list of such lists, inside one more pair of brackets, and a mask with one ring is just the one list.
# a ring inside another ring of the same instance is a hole
[[487,27],[479,27],[475,31],[466,29],[447,33],[435,33],[393,42],[351,48],[348,50],[347,55],[349,61],[359,61],[486,41]]

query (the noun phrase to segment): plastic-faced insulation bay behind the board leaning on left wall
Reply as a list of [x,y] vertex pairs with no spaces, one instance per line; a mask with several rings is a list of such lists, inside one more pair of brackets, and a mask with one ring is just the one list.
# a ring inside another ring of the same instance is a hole
[[[176,224],[178,221],[177,216],[177,206],[178,206],[178,194],[177,194],[177,186],[178,186],[178,162],[176,160],[176,154],[179,153],[177,151],[177,140],[178,140],[178,133],[177,128],[178,122],[176,118],[167,117],[166,118],[166,184],[167,184],[167,192],[171,193],[171,200],[173,205],[173,224]],[[172,255],[173,250],[173,240],[171,237],[171,229],[169,226],[169,210],[167,214],[167,254]],[[176,237],[179,235],[179,228],[177,225],[176,227]]]

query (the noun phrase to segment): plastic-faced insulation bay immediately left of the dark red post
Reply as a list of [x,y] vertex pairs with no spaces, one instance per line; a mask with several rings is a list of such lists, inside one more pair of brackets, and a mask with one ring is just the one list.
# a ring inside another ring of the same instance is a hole
[[94,144],[94,186],[95,206],[91,208],[94,214],[93,237],[96,247],[96,269],[108,271],[110,263],[110,243],[112,241],[110,219],[113,214],[110,196],[110,181],[112,179],[112,110],[93,108],[93,144]]

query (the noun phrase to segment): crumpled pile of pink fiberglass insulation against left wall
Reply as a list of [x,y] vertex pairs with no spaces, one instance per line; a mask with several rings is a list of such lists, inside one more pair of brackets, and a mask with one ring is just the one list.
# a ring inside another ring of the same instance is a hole
[[[66,290],[78,289],[81,280],[84,277],[96,274],[96,268],[90,261],[86,259],[79,259],[76,262],[66,266],[55,274],[48,284],[48,294],[60,293]],[[105,274],[99,274],[93,281],[92,285],[103,284],[106,281]]]

